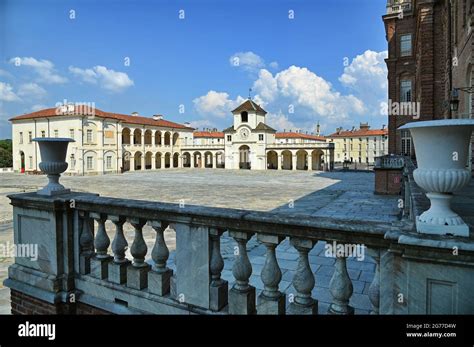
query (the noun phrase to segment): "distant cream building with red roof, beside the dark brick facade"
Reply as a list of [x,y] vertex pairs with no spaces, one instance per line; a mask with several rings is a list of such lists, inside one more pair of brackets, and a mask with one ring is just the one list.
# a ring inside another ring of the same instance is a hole
[[364,163],[373,165],[375,158],[388,154],[388,130],[370,129],[367,123],[361,123],[359,129],[342,130],[327,136],[334,143],[334,161],[342,163]]

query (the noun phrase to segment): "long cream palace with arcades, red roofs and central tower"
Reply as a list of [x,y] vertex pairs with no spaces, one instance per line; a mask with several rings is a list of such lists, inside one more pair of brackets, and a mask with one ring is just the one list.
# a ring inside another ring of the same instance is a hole
[[66,105],[24,114],[12,122],[14,171],[37,172],[35,137],[67,137],[66,174],[107,174],[167,168],[332,170],[334,144],[299,132],[278,133],[266,111],[252,100],[232,111],[222,132],[195,129],[163,119]]

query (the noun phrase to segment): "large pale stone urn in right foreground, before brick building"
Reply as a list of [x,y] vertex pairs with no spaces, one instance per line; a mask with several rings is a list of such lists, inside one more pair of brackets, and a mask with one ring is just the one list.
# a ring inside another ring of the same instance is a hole
[[415,182],[423,188],[431,207],[416,219],[416,229],[424,234],[452,234],[469,237],[469,226],[451,210],[453,192],[471,180],[467,169],[472,119],[443,119],[408,123],[418,168]]

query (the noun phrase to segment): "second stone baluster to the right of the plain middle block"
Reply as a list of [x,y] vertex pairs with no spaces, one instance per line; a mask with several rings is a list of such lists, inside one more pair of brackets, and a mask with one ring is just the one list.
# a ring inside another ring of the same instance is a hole
[[247,242],[252,233],[242,231],[229,231],[229,235],[237,241],[238,249],[232,274],[235,284],[229,291],[230,314],[255,314],[255,287],[249,285],[252,275],[252,264],[247,255]]

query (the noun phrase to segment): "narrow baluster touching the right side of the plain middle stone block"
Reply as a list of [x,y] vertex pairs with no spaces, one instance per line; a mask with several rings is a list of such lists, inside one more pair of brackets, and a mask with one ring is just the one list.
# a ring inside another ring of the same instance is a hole
[[224,260],[221,255],[221,236],[223,233],[223,229],[209,229],[209,237],[211,239],[209,303],[213,311],[221,310],[228,303],[228,283],[221,278],[221,272],[224,268]]

